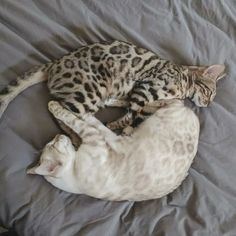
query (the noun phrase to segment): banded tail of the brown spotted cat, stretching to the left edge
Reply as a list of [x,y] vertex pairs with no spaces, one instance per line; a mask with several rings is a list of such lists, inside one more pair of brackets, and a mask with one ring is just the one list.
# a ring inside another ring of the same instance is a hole
[[0,90],[0,118],[6,110],[8,104],[25,89],[47,80],[47,70],[51,62],[33,67],[22,76],[11,81],[5,88]]

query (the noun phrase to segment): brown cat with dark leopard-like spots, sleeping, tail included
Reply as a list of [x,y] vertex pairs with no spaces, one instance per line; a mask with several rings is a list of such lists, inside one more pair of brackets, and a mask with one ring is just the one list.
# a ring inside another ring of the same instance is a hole
[[207,106],[215,97],[216,81],[224,70],[223,65],[176,65],[126,42],[95,43],[10,82],[0,91],[0,117],[20,92],[47,80],[50,93],[79,115],[95,113],[108,98],[115,101],[109,103],[114,106],[122,104],[117,100],[128,99],[130,112],[109,125],[123,128],[141,121],[143,107],[159,99],[190,98],[197,106]]

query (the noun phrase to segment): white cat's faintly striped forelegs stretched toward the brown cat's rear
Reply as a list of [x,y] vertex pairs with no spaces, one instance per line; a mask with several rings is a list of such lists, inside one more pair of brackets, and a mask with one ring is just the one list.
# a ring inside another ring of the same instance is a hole
[[91,114],[85,114],[83,117],[78,118],[75,114],[63,108],[55,101],[49,102],[48,108],[56,119],[62,121],[79,135],[83,143],[91,142],[91,140],[96,142],[96,139],[99,137],[99,140],[101,140],[101,136],[104,141],[113,140],[117,137],[115,133],[106,128]]

